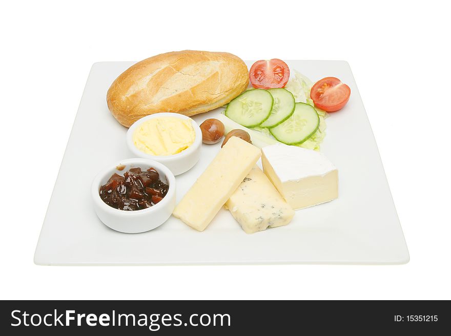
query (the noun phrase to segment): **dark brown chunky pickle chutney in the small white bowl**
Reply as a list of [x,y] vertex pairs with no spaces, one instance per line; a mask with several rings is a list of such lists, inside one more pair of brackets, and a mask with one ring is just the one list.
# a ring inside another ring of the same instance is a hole
[[131,168],[124,176],[114,173],[99,189],[100,198],[109,206],[119,210],[135,211],[157,204],[168,193],[169,186],[163,183],[158,172],[149,168]]

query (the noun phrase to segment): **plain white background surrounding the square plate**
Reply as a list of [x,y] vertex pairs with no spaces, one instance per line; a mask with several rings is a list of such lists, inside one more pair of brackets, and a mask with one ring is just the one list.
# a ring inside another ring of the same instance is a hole
[[[451,299],[447,2],[293,3],[17,1],[2,6],[0,299]],[[227,51],[242,59],[347,60],[411,261],[401,266],[34,265],[93,62],[183,49]]]

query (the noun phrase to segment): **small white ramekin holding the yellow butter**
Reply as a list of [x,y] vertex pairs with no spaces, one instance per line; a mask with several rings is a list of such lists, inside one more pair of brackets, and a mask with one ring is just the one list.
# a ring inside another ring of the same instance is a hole
[[[161,118],[161,117],[175,117],[180,119],[189,119],[193,125],[194,132],[196,133],[196,137],[191,146],[189,146],[185,151],[174,155],[168,156],[156,156],[146,154],[138,150],[133,143],[133,133],[136,128],[144,121],[153,119],[153,118]],[[155,113],[143,117],[137,121],[135,121],[127,132],[127,145],[129,146],[130,151],[133,152],[137,157],[150,159],[158,161],[164,165],[166,165],[174,175],[180,175],[189,171],[196,163],[199,161],[200,157],[200,146],[202,145],[202,132],[200,131],[199,125],[190,117],[179,113]]]

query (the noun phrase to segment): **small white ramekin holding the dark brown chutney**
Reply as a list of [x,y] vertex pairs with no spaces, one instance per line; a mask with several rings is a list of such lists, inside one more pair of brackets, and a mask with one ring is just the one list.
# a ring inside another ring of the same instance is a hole
[[[120,168],[124,166],[123,169]],[[119,167],[119,169],[118,169]],[[143,171],[153,167],[160,175],[160,180],[169,185],[168,193],[157,204],[147,209],[136,211],[119,210],[105,203],[99,195],[100,186],[107,183],[114,173],[121,176],[130,168],[140,167]],[[124,233],[146,232],[162,223],[171,216],[175,207],[175,177],[168,167],[148,159],[127,159],[111,164],[94,178],[91,187],[94,209],[98,218],[113,230]]]

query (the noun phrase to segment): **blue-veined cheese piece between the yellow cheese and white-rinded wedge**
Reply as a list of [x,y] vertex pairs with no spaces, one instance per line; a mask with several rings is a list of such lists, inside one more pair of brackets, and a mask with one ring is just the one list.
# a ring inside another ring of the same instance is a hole
[[295,214],[258,166],[244,178],[226,207],[248,234],[286,225]]

